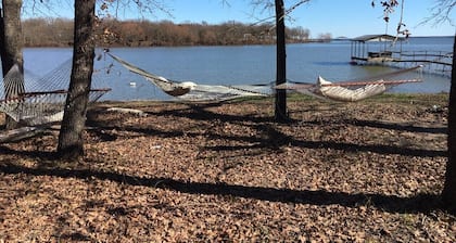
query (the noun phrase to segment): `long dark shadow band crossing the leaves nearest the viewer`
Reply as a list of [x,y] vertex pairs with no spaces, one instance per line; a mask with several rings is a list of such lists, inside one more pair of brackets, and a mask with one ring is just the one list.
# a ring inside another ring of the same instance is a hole
[[346,193],[325,190],[291,190],[262,187],[245,187],[226,183],[185,182],[168,178],[144,178],[111,171],[66,168],[29,168],[12,163],[2,163],[0,171],[7,175],[52,176],[60,178],[100,179],[122,184],[161,188],[180,193],[233,196],[267,202],[311,204],[317,206],[341,205],[345,207],[371,206],[391,213],[430,213],[442,208],[439,195],[418,194],[409,197],[376,193]]

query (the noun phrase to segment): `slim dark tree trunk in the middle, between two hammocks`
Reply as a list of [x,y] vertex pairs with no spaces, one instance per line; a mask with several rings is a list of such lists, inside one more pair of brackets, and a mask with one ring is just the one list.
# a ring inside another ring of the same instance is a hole
[[[276,85],[287,81],[287,53],[286,53],[286,34],[284,34],[284,5],[283,0],[276,0],[276,36],[277,36],[277,77]],[[275,102],[276,122],[283,123],[288,120],[287,114],[287,90],[276,90]]]

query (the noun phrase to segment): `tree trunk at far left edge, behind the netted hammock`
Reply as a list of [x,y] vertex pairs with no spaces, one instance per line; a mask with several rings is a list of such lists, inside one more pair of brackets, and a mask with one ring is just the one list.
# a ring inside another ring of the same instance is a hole
[[[3,0],[3,15],[0,21],[0,55],[3,76],[17,64],[21,73],[24,73],[24,59],[22,54],[23,38],[21,26],[22,0]],[[24,80],[17,92],[24,92]],[[7,98],[16,97],[18,93],[5,93]],[[18,124],[11,117],[7,117],[7,129],[16,128]]]

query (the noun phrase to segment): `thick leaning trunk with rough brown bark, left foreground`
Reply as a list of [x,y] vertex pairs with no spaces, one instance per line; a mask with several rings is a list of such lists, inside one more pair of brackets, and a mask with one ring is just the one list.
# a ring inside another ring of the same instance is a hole
[[94,7],[96,0],[75,1],[73,69],[58,146],[62,158],[84,155],[83,132],[93,73]]

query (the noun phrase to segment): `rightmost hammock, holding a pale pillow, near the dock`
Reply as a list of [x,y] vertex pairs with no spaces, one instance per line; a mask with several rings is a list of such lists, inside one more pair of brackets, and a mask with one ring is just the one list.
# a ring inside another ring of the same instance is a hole
[[316,84],[305,82],[286,82],[276,86],[276,89],[295,90],[297,92],[313,95],[320,99],[333,101],[355,102],[377,94],[381,94],[394,86],[408,82],[420,82],[422,78],[389,79],[397,77],[421,68],[421,66],[393,73],[382,74],[380,76],[365,78],[358,81],[331,82],[322,77],[318,77]]

